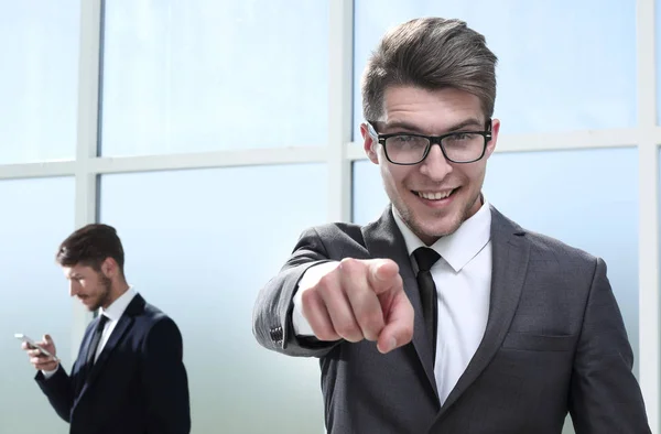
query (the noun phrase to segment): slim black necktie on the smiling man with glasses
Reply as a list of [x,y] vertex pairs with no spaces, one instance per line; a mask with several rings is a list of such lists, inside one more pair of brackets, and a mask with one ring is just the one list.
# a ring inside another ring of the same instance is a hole
[[432,344],[432,360],[436,361],[436,324],[438,321],[438,306],[436,305],[436,285],[432,273],[432,265],[441,259],[434,249],[421,247],[413,252],[415,262],[418,262],[418,286],[420,287],[420,301],[422,303],[422,315],[427,332],[427,337]]

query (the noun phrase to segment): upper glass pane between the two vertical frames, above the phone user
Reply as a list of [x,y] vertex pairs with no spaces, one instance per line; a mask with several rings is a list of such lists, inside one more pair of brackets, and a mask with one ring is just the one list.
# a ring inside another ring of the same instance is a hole
[[105,3],[104,155],[325,144],[327,0]]

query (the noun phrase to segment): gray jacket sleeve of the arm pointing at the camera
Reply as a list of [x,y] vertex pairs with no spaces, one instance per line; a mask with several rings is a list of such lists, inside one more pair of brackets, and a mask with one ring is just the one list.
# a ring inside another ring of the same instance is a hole
[[301,278],[311,267],[330,260],[314,228],[301,235],[292,256],[257,296],[252,333],[261,346],[288,356],[323,357],[339,343],[297,337],[292,324],[293,299]]

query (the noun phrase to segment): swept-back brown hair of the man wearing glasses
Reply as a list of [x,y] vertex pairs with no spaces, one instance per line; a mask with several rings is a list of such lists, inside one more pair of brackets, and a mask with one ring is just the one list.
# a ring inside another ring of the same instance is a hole
[[367,63],[362,75],[365,119],[380,120],[383,94],[393,85],[465,90],[480,99],[485,116],[490,118],[497,62],[485,36],[464,21],[421,18],[400,24],[383,36]]

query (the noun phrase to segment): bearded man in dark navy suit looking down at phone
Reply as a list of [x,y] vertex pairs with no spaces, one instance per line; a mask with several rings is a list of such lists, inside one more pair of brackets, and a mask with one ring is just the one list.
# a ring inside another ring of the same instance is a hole
[[[88,225],[59,246],[57,263],[71,295],[99,310],[80,345],[71,376],[29,348],[36,382],[77,434],[187,434],[188,380],[182,335],[124,278],[124,254],[115,228]],[[48,335],[41,343],[55,355]]]

